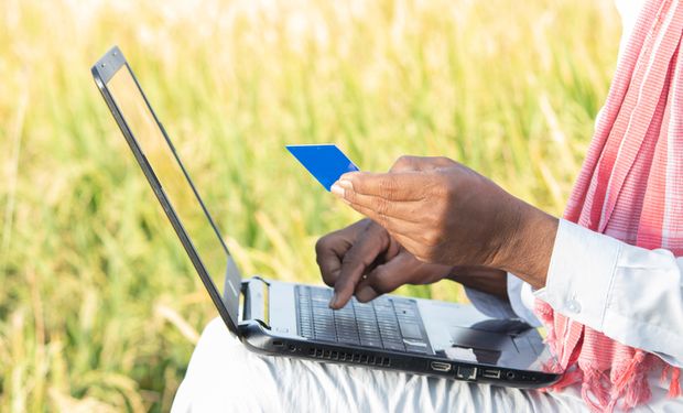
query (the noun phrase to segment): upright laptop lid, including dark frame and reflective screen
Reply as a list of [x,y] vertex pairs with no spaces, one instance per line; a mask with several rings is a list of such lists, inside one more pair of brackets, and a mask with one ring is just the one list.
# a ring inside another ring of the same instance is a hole
[[91,73],[220,316],[237,334],[241,275],[135,75],[117,46]]

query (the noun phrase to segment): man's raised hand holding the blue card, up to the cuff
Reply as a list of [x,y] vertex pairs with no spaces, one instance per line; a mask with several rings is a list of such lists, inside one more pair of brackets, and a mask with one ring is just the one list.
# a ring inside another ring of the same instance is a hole
[[445,157],[401,157],[386,174],[354,172],[333,186],[423,262],[514,272],[535,287],[557,220]]

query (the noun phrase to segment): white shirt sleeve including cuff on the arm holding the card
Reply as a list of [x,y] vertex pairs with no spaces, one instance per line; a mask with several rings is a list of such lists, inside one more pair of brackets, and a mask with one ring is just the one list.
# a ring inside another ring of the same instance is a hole
[[545,287],[556,312],[683,367],[683,258],[560,220]]

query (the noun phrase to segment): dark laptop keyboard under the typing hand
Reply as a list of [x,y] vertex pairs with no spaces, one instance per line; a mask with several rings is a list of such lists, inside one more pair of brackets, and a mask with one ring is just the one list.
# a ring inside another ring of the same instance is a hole
[[299,335],[308,339],[431,354],[414,300],[379,296],[369,303],[356,297],[342,309],[328,303],[332,290],[296,285]]

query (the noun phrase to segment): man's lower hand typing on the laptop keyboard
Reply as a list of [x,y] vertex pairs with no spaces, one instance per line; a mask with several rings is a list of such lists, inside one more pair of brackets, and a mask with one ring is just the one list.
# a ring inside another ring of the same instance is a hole
[[416,260],[370,219],[321,238],[315,250],[323,280],[335,289],[329,302],[335,309],[351,295],[368,302],[403,284],[430,284],[452,272],[448,265]]

